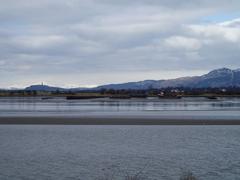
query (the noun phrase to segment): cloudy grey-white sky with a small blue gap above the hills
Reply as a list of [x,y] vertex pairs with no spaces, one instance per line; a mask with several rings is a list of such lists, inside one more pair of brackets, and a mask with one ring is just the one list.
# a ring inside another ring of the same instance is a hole
[[0,0],[0,87],[240,68],[239,0]]

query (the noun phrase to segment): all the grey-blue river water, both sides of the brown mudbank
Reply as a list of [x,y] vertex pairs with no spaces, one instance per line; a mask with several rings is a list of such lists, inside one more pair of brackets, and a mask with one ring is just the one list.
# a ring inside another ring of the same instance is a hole
[[[0,98],[0,116],[239,119],[240,100]],[[239,126],[0,125],[0,179],[240,178]]]

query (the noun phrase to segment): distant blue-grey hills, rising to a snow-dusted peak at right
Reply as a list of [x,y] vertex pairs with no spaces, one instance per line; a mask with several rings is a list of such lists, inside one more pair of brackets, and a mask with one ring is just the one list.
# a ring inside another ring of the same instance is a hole
[[122,84],[108,84],[96,88],[72,88],[65,89],[46,85],[32,85],[25,90],[38,91],[79,91],[79,90],[100,90],[100,89],[136,89],[144,90],[149,88],[185,87],[185,88],[218,88],[218,87],[240,87],[240,69],[232,70],[221,68],[210,71],[202,76],[180,77],[169,80],[144,80],[139,82],[127,82]]

